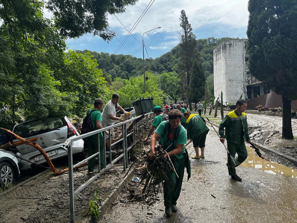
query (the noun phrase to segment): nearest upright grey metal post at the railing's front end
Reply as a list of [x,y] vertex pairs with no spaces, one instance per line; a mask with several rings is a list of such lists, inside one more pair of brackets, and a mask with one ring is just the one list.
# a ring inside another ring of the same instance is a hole
[[67,152],[68,152],[68,175],[69,175],[69,198],[70,198],[70,222],[75,223],[73,160],[72,160],[71,144],[69,145]]

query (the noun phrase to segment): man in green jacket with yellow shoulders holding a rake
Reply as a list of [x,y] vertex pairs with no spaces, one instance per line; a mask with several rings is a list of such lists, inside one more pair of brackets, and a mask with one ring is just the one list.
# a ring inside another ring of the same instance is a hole
[[[240,164],[247,158],[247,148],[244,142],[251,141],[247,128],[247,114],[244,113],[245,109],[247,109],[247,101],[244,99],[237,100],[236,109],[229,112],[219,125],[220,141],[225,143],[225,138],[227,139],[227,148],[230,155],[235,157],[235,153],[237,153],[236,160]],[[240,164],[235,166],[230,155],[228,155],[227,164],[229,175],[233,180],[241,181],[242,179],[237,176],[235,170],[235,167]]]

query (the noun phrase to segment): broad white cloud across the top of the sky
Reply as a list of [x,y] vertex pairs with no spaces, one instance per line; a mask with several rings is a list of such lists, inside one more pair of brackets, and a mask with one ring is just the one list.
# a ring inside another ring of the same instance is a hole
[[[162,26],[148,35],[156,32],[175,32],[179,30],[180,11],[185,10],[193,29],[203,25],[221,23],[233,27],[246,27],[248,22],[247,11],[248,0],[157,0],[146,12],[133,33],[143,34],[144,32]],[[143,10],[149,4],[149,0],[140,0],[135,6],[129,6],[126,12],[117,15],[120,21],[128,30],[134,25]],[[127,30],[119,23],[115,16],[109,16],[110,29],[118,34],[127,34]]]

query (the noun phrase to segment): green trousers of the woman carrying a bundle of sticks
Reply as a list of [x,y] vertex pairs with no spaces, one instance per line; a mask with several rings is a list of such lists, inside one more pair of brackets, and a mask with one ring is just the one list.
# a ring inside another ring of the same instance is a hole
[[[173,159],[173,156],[171,157]],[[172,205],[176,205],[176,201],[181,193],[181,185],[183,183],[184,178],[184,170],[186,165],[186,156],[179,159],[176,156],[174,157],[175,163],[174,168],[178,175],[176,176],[173,169],[167,171],[167,177],[170,180],[169,185],[164,184],[164,205],[165,207],[170,207]]]

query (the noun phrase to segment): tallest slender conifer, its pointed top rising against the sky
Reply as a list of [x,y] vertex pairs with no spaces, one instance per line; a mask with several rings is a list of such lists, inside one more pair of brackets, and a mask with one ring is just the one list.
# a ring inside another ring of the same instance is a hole
[[181,16],[179,20],[179,26],[181,27],[181,31],[178,32],[178,55],[180,57],[178,67],[182,71],[180,72],[180,78],[182,81],[181,87],[184,90],[184,95],[186,95],[186,98],[189,101],[190,110],[192,110],[192,100],[190,100],[190,97],[192,96],[190,96],[189,94],[189,84],[191,79],[191,69],[194,64],[194,60],[199,56],[199,54],[196,49],[196,36],[192,32],[191,24],[189,23],[188,17],[184,10],[181,10]]

